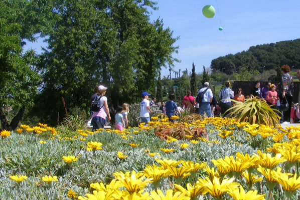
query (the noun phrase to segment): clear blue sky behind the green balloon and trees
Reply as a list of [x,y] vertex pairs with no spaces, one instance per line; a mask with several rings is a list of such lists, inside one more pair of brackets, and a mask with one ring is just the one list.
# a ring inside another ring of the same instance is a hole
[[[151,19],[163,19],[165,27],[180,36],[175,43],[181,60],[174,70],[203,70],[211,60],[229,53],[247,50],[252,45],[300,38],[300,0],[156,0],[158,10]],[[213,18],[202,14],[203,6],[216,9]],[[219,26],[223,30],[218,30]],[[40,52],[42,40],[28,43]],[[169,70],[163,68],[162,76]],[[172,73],[174,76],[174,73]]]

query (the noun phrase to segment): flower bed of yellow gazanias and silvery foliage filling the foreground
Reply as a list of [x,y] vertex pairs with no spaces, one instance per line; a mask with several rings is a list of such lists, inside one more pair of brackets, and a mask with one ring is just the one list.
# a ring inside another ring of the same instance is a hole
[[[230,118],[60,137],[46,124],[2,131],[3,199],[294,199],[299,127]],[[182,121],[182,122],[180,122]]]

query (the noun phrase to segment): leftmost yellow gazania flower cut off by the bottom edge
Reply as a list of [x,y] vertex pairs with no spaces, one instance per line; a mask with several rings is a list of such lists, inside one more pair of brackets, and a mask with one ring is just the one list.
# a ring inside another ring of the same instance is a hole
[[120,199],[121,197],[121,191],[119,190],[109,190],[109,191],[97,191],[94,190],[93,194],[86,193],[87,197],[84,196],[78,196],[78,200],[102,200],[102,199]]

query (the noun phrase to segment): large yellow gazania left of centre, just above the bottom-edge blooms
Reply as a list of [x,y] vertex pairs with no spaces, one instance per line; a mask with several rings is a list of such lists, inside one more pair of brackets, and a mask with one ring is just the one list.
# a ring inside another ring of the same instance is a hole
[[131,173],[114,172],[113,175],[129,192],[138,191],[145,187],[149,182],[152,182],[152,178],[144,179],[145,175],[140,176],[140,174],[137,174],[134,170],[132,170]]

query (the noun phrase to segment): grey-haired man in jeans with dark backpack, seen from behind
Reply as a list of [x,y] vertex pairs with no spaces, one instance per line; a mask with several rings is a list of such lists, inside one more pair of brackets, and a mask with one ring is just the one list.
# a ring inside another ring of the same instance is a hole
[[199,89],[196,101],[199,103],[199,114],[204,114],[208,117],[212,117],[212,111],[210,103],[213,100],[213,91],[209,88],[209,82],[204,83],[204,87]]

